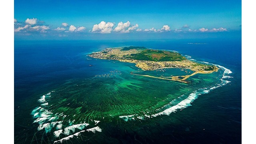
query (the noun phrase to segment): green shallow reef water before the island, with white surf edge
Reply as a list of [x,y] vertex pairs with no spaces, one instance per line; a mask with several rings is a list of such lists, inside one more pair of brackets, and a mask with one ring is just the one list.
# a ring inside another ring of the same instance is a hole
[[[108,63],[110,67],[113,61]],[[95,76],[83,80],[68,80],[38,97],[38,107],[31,113],[33,123],[39,125],[38,131],[53,134],[56,142],[61,142],[84,132],[101,132],[101,122],[130,123],[170,115],[190,106],[198,96],[228,83],[222,79],[224,70],[196,74],[188,78],[189,84],[184,84],[132,75],[130,72],[137,69],[134,64],[115,64],[118,69],[94,71]],[[169,76],[185,75],[184,71],[168,68],[138,73]]]

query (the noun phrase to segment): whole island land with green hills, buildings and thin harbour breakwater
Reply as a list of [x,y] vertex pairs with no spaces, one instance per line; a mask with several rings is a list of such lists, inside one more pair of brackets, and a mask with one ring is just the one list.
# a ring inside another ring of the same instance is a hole
[[170,76],[170,77],[156,77],[142,74],[130,74],[138,76],[147,76],[151,78],[159,78],[163,80],[174,80],[188,83],[187,78],[194,74],[210,74],[217,72],[218,67],[209,64],[200,64],[188,60],[178,52],[171,52],[166,50],[153,50],[140,46],[129,46],[122,48],[106,48],[101,52],[93,52],[88,56],[98,59],[119,60],[120,62],[135,63],[136,67],[142,70],[157,70],[163,68],[184,68],[194,71],[194,73],[185,76]]

